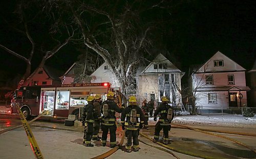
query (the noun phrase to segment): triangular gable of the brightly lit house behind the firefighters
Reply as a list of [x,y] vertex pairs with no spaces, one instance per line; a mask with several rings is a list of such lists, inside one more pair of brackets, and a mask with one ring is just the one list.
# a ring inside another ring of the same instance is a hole
[[[167,69],[154,69],[154,64],[167,64]],[[180,72],[181,71],[170,62],[162,54],[158,54],[157,57],[146,66],[146,68],[141,72],[141,74],[150,74],[150,73],[167,73],[167,72]]]

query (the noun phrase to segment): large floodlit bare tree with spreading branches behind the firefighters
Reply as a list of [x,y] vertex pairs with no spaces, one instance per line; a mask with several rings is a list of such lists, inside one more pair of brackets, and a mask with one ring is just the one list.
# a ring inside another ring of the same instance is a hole
[[131,89],[141,57],[150,55],[147,49],[159,36],[153,33],[163,22],[161,10],[168,7],[167,2],[50,1],[46,4],[61,14],[72,15],[67,20],[72,19],[74,26],[78,26],[77,39],[82,39],[84,45],[104,59],[126,96],[130,94],[127,91]]

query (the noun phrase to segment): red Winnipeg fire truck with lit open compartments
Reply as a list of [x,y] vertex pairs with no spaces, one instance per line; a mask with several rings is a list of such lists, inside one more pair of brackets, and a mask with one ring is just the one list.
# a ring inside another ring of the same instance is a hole
[[[88,96],[100,94],[104,101],[110,90],[111,84],[108,82],[23,86],[15,90],[13,99],[19,103],[27,120],[31,116],[38,116],[43,110],[47,111],[47,117],[68,117],[71,114],[79,118]],[[13,104],[12,113],[17,113]]]

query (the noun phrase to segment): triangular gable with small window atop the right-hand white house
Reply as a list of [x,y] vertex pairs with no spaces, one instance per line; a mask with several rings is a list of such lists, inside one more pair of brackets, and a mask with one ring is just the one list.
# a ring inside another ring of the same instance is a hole
[[[215,60],[225,60],[224,66],[225,67],[212,67],[214,66]],[[212,62],[212,63],[210,63]],[[209,64],[209,65],[208,65]],[[207,66],[207,67],[206,67]],[[212,71],[212,70],[214,71]],[[199,69],[197,69],[194,73],[207,73],[207,72],[218,72],[218,71],[246,71],[241,65],[234,62],[232,59],[227,57],[226,55],[222,54],[221,52],[217,52],[212,56],[208,61],[202,64]]]

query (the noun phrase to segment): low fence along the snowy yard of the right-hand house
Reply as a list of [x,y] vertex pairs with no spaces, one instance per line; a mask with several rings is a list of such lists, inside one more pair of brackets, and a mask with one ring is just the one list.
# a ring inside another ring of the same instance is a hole
[[[189,112],[192,111],[192,106],[187,105],[187,110]],[[198,115],[207,115],[210,113],[229,113],[229,114],[236,114],[236,115],[244,115],[245,113],[253,113],[254,115],[256,114],[256,107],[218,107],[218,106],[196,106],[196,111]]]

